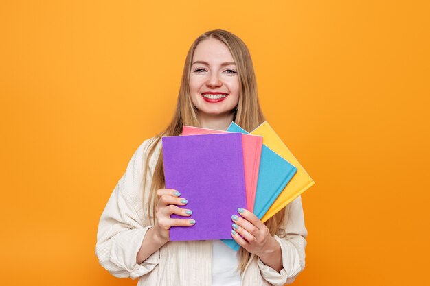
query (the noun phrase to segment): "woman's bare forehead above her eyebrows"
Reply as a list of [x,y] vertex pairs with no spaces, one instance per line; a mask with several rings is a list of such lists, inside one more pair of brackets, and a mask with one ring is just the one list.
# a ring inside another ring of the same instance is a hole
[[194,50],[192,61],[202,60],[205,62],[234,62],[229,48],[220,40],[209,38],[203,40]]

